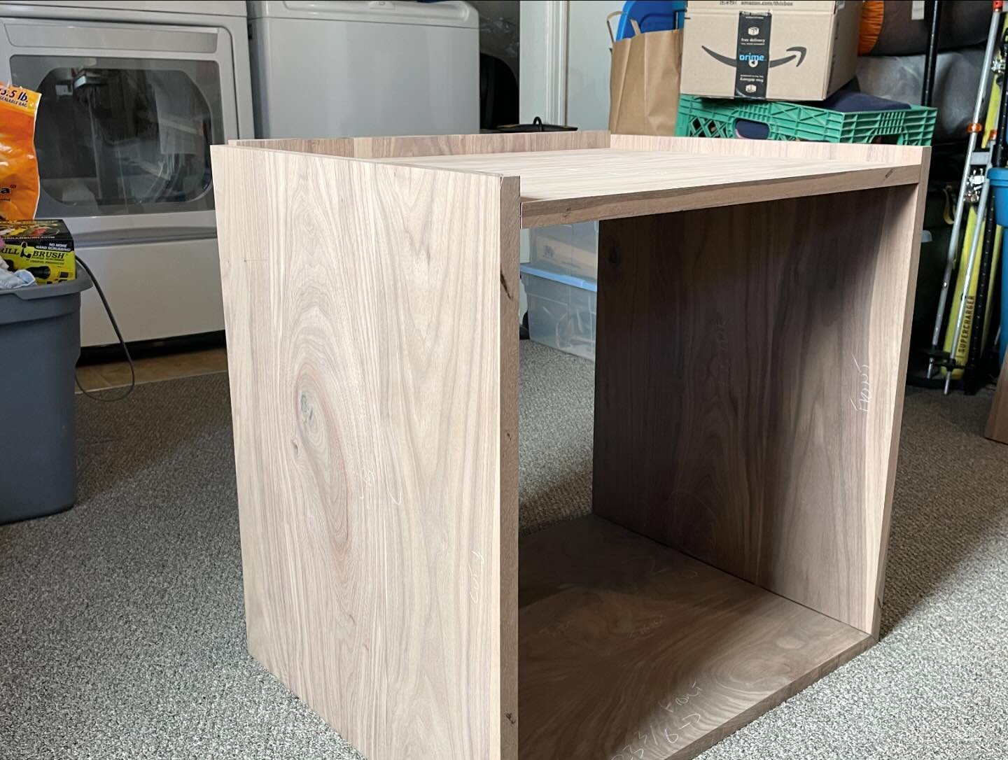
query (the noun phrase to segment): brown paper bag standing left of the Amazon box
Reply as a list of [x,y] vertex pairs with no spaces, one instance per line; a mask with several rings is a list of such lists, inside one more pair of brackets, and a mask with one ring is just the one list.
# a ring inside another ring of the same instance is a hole
[[[606,24],[622,11],[610,13]],[[682,30],[641,33],[613,41],[609,77],[609,131],[627,135],[674,135],[679,108]],[[613,36],[612,26],[609,35]]]

